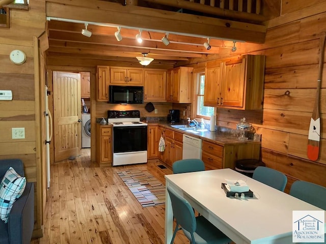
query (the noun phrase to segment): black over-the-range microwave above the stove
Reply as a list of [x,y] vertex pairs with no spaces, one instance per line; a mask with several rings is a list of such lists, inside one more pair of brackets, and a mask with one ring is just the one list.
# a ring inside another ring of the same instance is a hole
[[142,104],[144,103],[143,86],[108,86],[108,102],[120,104]]

